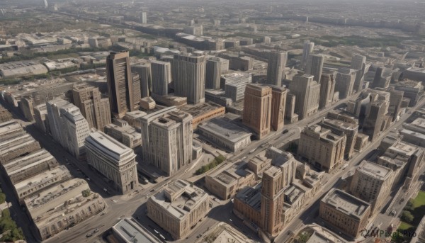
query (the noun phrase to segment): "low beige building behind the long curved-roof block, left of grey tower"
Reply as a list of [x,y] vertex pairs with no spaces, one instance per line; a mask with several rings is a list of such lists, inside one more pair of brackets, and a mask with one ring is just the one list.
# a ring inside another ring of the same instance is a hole
[[[140,124],[137,127],[140,129]],[[105,133],[132,149],[142,145],[140,130],[133,128],[125,120],[115,119],[113,123],[106,125]]]

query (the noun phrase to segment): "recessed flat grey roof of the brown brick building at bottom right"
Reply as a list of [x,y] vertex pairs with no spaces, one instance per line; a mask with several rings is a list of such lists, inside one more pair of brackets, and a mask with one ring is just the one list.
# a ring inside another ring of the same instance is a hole
[[366,210],[370,207],[369,203],[335,188],[331,189],[331,191],[322,198],[321,202],[333,206],[336,210],[345,215],[351,215],[357,218],[363,217]]

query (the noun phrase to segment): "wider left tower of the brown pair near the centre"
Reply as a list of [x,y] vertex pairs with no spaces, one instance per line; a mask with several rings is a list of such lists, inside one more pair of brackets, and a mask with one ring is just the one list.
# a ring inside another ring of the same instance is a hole
[[242,122],[256,132],[259,139],[270,132],[271,87],[247,84]]

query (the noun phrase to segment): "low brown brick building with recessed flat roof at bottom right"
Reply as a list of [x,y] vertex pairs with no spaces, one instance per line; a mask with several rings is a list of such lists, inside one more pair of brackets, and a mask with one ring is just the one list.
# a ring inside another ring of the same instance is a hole
[[332,227],[357,238],[368,224],[370,204],[333,188],[320,200],[319,215]]

